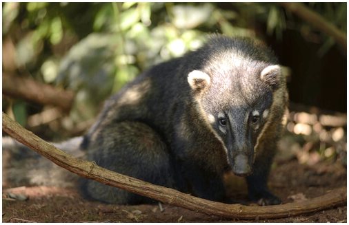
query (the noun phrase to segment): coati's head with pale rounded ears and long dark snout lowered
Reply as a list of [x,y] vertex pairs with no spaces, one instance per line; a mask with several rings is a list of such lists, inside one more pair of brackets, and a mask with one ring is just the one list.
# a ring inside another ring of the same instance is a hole
[[271,118],[273,95],[283,82],[281,68],[270,52],[251,41],[220,41],[202,48],[210,55],[188,73],[188,83],[232,171],[245,176],[252,173],[257,140]]

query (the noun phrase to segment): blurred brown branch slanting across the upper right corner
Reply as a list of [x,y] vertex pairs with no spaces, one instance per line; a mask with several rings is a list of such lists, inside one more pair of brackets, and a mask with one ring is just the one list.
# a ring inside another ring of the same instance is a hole
[[297,16],[301,17],[315,28],[325,32],[329,36],[332,36],[333,39],[335,39],[337,43],[339,43],[346,50],[346,34],[336,28],[335,25],[328,23],[328,21],[326,21],[326,19],[323,19],[321,15],[310,10],[302,3],[282,2],[279,4],[287,10],[290,10],[291,12],[297,14]]

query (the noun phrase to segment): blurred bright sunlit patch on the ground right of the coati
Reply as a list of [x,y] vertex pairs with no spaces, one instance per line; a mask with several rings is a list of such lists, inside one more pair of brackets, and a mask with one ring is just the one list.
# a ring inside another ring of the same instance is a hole
[[346,165],[346,141],[346,114],[322,114],[319,109],[315,114],[291,109],[286,138],[281,140],[280,146],[282,153],[288,158],[297,158],[301,164],[339,159]]

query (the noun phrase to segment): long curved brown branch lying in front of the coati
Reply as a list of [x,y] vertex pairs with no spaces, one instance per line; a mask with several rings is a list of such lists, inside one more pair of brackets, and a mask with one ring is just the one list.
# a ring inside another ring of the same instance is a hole
[[97,180],[103,184],[150,197],[166,204],[188,208],[192,211],[206,213],[208,215],[235,219],[255,219],[256,217],[259,217],[259,219],[272,219],[311,213],[346,204],[346,188],[337,189],[321,197],[315,197],[312,200],[292,202],[278,206],[243,206],[241,204],[223,204],[220,202],[203,200],[199,197],[193,197],[174,189],[168,189],[163,186],[157,186],[126,175],[108,171],[107,169],[97,166],[94,162],[78,160],[57,149],[48,142],[43,141],[32,132],[27,131],[4,113],[2,121],[3,131],[10,134],[12,138],[26,144],[34,151],[37,151],[37,153],[40,153],[42,156],[45,156],[68,171],[77,173],[85,178]]

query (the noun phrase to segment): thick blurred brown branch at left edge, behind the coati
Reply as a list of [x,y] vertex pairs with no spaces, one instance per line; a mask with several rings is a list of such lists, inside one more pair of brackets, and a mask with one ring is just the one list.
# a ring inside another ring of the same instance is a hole
[[73,92],[10,74],[3,74],[3,94],[42,105],[56,105],[63,111],[69,111],[74,100]]

